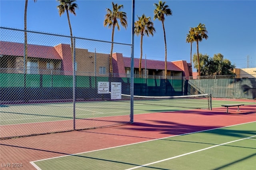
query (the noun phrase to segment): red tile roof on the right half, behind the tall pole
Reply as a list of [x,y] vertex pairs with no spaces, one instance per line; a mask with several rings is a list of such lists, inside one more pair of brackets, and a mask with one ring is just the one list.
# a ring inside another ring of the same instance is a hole
[[[139,68],[139,58],[134,58],[134,68]],[[131,66],[131,58],[124,57],[124,66],[125,67],[130,67]],[[145,68],[145,59],[142,59],[141,62],[141,68]],[[158,69],[158,70],[164,70],[164,61],[159,61],[159,60],[146,60],[146,68],[147,69]],[[172,62],[167,62],[167,70],[171,71],[180,71],[182,72],[183,70],[178,68],[175,64]]]

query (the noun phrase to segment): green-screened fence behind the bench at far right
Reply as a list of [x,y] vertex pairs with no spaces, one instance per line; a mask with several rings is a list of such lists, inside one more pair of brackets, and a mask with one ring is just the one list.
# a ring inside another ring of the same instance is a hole
[[[256,78],[244,75],[187,77],[188,94],[212,94],[214,98],[256,99]],[[254,75],[255,76],[255,75]]]

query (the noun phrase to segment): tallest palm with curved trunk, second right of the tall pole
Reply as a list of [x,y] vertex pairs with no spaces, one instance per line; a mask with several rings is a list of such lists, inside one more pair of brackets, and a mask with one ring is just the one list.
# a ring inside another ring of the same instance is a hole
[[165,5],[166,2],[159,1],[158,4],[154,4],[156,9],[154,10],[154,20],[157,18],[162,22],[163,30],[164,30],[164,46],[165,46],[165,79],[167,77],[167,48],[166,48],[166,36],[164,29],[164,16],[172,15],[172,10],[170,10],[168,5]]

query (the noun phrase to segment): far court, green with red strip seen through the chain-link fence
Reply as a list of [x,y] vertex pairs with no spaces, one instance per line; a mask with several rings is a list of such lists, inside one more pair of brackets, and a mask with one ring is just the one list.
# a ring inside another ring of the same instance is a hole
[[[20,104],[1,107],[1,138],[28,136],[51,132],[99,128],[130,122],[130,96],[123,100]],[[164,97],[134,97],[134,114],[172,112],[192,109],[210,110],[221,104],[254,104],[252,100],[218,101],[206,95]],[[75,110],[75,114],[74,111]],[[230,108],[232,112],[232,108]]]

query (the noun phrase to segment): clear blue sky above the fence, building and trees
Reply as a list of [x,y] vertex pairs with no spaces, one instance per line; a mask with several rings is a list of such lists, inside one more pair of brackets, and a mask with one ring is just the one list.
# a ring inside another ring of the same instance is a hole
[[[132,0],[114,0],[123,4],[128,28],[115,31],[114,41],[131,44]],[[106,8],[112,9],[112,0],[77,0],[76,16],[70,14],[73,35],[76,37],[111,41],[111,29],[103,26]],[[158,0],[135,0],[136,15],[150,16],[156,32],[143,38],[143,58],[164,60],[162,23],[153,20],[154,3]],[[0,0],[0,26],[24,29],[25,0]],[[208,39],[199,43],[199,52],[221,53],[237,68],[256,67],[256,0],[166,0],[172,10],[164,22],[166,29],[167,60],[190,62],[190,44],[186,34],[190,27],[205,24]],[[56,0],[28,0],[27,30],[70,35],[66,13],[58,14]],[[192,54],[196,52],[193,44]],[[249,56],[249,57],[247,57]],[[134,39],[134,57],[140,57],[140,36]],[[194,70],[195,71],[195,70]]]

